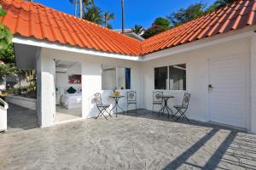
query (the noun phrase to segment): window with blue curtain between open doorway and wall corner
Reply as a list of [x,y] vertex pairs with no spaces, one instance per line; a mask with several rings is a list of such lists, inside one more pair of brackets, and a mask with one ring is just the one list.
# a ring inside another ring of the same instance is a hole
[[102,65],[102,90],[131,89],[131,68]]

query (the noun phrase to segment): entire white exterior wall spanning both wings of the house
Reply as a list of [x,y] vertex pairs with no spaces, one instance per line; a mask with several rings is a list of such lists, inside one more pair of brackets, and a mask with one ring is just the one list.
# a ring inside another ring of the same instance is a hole
[[[247,116],[247,129],[252,129],[252,131],[255,132],[256,68],[252,67],[252,75],[250,70],[250,65],[256,65],[255,37],[252,42],[253,43],[251,43],[251,38],[242,38],[240,40],[223,42],[211,47],[198,48],[188,52],[172,54],[168,57],[143,62],[42,48],[41,58],[38,59],[38,61],[40,61],[38,62],[38,70],[41,71],[41,73],[38,72],[38,81],[42,79],[41,87],[38,87],[38,90],[44,94],[41,97],[40,94],[38,94],[38,98],[41,99],[41,102],[39,100],[38,102],[40,102],[40,105],[42,106],[40,109],[42,112],[42,125],[45,127],[53,124],[52,113],[55,111],[55,95],[53,95],[53,93],[55,94],[55,86],[52,85],[54,84],[55,74],[55,65],[53,64],[54,59],[79,61],[82,65],[83,118],[94,117],[98,114],[94,102],[94,94],[96,93],[102,93],[102,102],[104,104],[113,105],[113,99],[109,98],[109,95],[112,94],[112,90],[102,91],[102,65],[131,68],[131,89],[137,91],[137,107],[152,110],[154,68],[185,63],[187,65],[187,91],[192,94],[188,116],[191,119],[208,122],[208,61],[212,58],[240,55],[247,63],[246,90],[248,99],[246,101],[247,112],[245,113],[245,116]],[[250,63],[251,55],[252,63]],[[252,85],[250,83],[251,78],[253,80]],[[49,90],[49,86],[51,85],[53,89]],[[125,94],[125,91],[126,90],[122,90],[121,94]],[[172,103],[171,105],[180,104],[182,102],[183,91],[165,90],[165,93],[175,96],[175,99],[170,99],[170,102]],[[250,94],[252,94],[252,99],[249,97]],[[49,103],[49,99],[54,102],[52,104]],[[250,102],[251,100],[252,102]],[[120,105],[126,110],[126,98],[120,101]],[[157,110],[156,105],[154,108]],[[251,110],[252,114],[250,113]]]

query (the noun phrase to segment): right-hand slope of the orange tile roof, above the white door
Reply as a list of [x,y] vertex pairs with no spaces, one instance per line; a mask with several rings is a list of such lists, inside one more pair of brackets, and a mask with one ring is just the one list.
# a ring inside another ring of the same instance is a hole
[[256,0],[241,0],[143,41],[143,54],[256,24]]

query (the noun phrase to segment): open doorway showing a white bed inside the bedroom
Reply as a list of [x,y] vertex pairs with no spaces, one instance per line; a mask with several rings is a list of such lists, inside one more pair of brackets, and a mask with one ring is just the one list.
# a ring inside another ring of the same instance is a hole
[[82,118],[82,65],[55,59],[55,124]]

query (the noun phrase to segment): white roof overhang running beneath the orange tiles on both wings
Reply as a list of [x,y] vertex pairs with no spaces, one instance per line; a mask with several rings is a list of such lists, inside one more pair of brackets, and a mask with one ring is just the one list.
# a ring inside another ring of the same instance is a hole
[[[113,59],[126,59],[133,61],[148,61],[152,59],[159,59],[162,57],[170,56],[172,54],[179,54],[183,52],[187,52],[190,50],[195,50],[198,48],[206,48],[218,43],[230,42],[236,39],[241,39],[243,37],[251,37],[255,34],[256,26],[247,26],[242,28],[241,30],[230,31],[225,34],[219,34],[214,37],[207,37],[201,40],[197,40],[195,42],[189,42],[183,45],[179,45],[174,48],[167,48],[158,52],[154,52],[152,54],[146,54],[143,56],[134,56],[134,55],[124,55],[124,54],[112,54],[106,53],[86,48],[73,47],[70,45],[63,45],[58,42],[48,42],[41,41],[32,37],[21,37],[15,35],[13,38],[13,42],[15,42],[15,55],[18,56],[16,59],[17,65],[19,68],[34,68],[32,63],[34,61],[31,60],[31,63],[26,63],[26,65],[22,64],[22,61],[26,60],[26,58],[34,58],[36,59],[36,55],[39,54],[40,48],[52,48],[63,50],[67,52],[74,52],[79,54],[90,54],[96,55],[100,57],[108,57]],[[23,48],[23,49],[22,49]],[[21,63],[21,64],[20,64]]]

